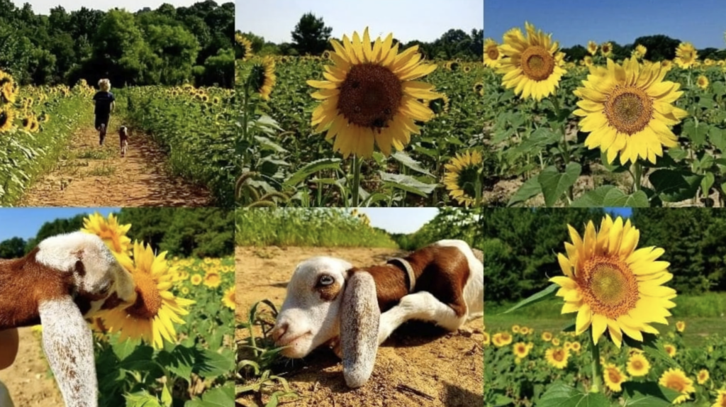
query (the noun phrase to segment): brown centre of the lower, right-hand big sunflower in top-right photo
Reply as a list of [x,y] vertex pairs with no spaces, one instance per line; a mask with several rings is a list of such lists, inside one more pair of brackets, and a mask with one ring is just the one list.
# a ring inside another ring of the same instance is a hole
[[605,117],[620,133],[642,131],[653,118],[653,101],[635,86],[618,86],[605,101]]

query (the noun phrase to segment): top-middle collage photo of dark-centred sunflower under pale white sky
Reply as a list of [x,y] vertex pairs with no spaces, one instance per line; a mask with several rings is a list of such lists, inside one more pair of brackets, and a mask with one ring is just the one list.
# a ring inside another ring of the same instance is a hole
[[250,1],[240,207],[481,206],[482,0]]

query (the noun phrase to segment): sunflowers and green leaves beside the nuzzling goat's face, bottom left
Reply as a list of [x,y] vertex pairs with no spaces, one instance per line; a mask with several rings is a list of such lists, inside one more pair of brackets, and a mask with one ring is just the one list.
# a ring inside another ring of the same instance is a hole
[[113,214],[83,226],[131,272],[137,294],[130,307],[89,318],[99,406],[232,406],[234,258],[166,259],[131,242],[132,225]]

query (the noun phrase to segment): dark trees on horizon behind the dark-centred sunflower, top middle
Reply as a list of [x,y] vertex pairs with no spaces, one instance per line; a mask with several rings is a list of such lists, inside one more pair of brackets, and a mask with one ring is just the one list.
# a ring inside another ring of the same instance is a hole
[[[274,44],[265,41],[264,37],[254,33],[242,33],[252,43],[252,50],[259,55],[287,55],[287,56],[320,56],[325,51],[333,51],[330,45],[330,33],[333,28],[325,25],[322,17],[312,13],[306,13],[291,32],[293,41],[282,44]],[[240,32],[241,33],[241,32]],[[359,35],[363,33],[360,32]],[[351,38],[352,33],[348,33]],[[340,38],[338,38],[338,41]],[[393,38],[394,43],[401,42]],[[484,48],[484,30],[473,29],[469,33],[464,30],[448,30],[441,37],[433,42],[409,41],[402,43],[402,48],[419,46],[419,51],[427,59],[461,59],[463,61],[481,62],[482,49]],[[242,53],[241,46],[237,46],[237,57]]]

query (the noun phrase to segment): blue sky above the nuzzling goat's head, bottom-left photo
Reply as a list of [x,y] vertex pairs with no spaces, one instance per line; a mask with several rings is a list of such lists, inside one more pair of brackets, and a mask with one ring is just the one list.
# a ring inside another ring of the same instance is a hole
[[11,237],[35,237],[43,223],[57,218],[73,218],[79,213],[98,212],[104,216],[118,207],[3,207],[0,208],[0,242]]

